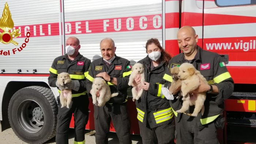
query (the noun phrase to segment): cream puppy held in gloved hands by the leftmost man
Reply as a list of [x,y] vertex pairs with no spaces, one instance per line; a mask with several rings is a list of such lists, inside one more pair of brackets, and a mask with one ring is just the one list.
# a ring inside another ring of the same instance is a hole
[[[65,87],[65,84],[70,83],[71,78],[68,73],[62,72],[58,75],[57,77],[57,83],[59,83],[62,87]],[[63,89],[60,91],[60,103],[61,103],[61,108],[64,106],[67,106],[69,109],[69,105],[72,100],[72,92],[71,90],[68,89]]]

